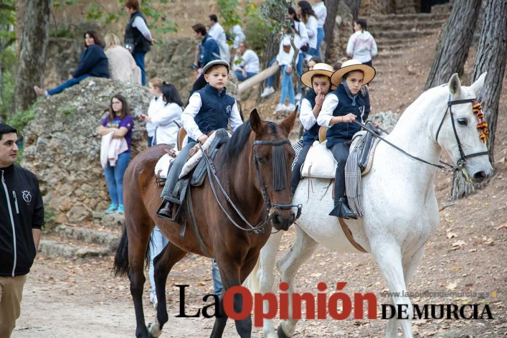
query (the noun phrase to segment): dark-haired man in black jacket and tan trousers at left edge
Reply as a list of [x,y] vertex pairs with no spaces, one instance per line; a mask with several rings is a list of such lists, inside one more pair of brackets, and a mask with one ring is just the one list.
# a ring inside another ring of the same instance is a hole
[[44,205],[35,175],[18,166],[17,131],[0,123],[0,337],[10,337],[20,315],[26,275],[33,264]]

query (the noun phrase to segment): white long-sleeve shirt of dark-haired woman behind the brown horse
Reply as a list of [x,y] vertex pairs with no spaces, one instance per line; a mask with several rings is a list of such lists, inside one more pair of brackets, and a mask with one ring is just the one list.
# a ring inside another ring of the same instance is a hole
[[179,128],[182,126],[183,108],[176,103],[165,103],[152,118],[155,125],[154,144],[176,144]]

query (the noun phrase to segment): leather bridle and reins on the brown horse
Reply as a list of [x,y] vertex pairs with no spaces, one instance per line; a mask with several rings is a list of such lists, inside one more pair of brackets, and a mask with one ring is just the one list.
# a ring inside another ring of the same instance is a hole
[[[274,149],[275,147],[282,147],[284,144],[290,144],[290,143],[291,142],[289,141],[288,138],[286,138],[284,140],[281,140],[281,141],[262,141],[262,140],[253,141],[253,144],[252,144],[253,163],[255,164],[257,179],[259,180],[260,185],[261,185],[262,197],[264,199],[264,204],[265,204],[266,212],[267,212],[266,216],[264,217],[264,219],[261,220],[259,223],[257,223],[255,226],[253,226],[252,224],[250,224],[250,222],[246,219],[246,217],[239,210],[239,208],[232,202],[231,198],[229,197],[229,195],[225,191],[222,183],[220,182],[219,177],[216,175],[216,168],[215,168],[215,166],[213,165],[213,163],[212,163],[211,159],[209,158],[208,154],[206,154],[206,152],[203,151],[203,156],[204,156],[204,159],[206,161],[206,171],[208,173],[208,179],[209,179],[209,183],[211,185],[211,191],[213,192],[215,200],[219,204],[219,206],[222,209],[222,211],[226,214],[226,216],[229,219],[229,221],[231,223],[233,223],[236,228],[244,230],[244,231],[248,231],[248,232],[254,232],[256,234],[258,234],[258,233],[264,233],[264,232],[266,232],[266,224],[276,215],[276,211],[279,210],[279,209],[288,210],[288,209],[292,209],[293,207],[297,207],[298,208],[298,212],[297,212],[296,218],[294,220],[296,221],[301,216],[301,209],[303,207],[302,204],[291,205],[291,204],[276,204],[276,203],[271,202],[271,200],[270,200],[270,198],[268,196],[268,193],[267,193],[266,184],[264,184],[264,181],[263,181],[262,175],[261,175],[261,171],[259,169],[259,160],[257,158],[257,153],[255,152],[255,146],[256,145],[271,145],[273,147],[273,149]],[[274,162],[273,162],[273,167],[275,167],[275,163]],[[278,168],[278,170],[281,170],[281,168]],[[239,218],[241,218],[241,220],[248,226],[248,228],[244,228],[244,227],[240,226],[240,224],[238,224],[233,219],[232,215],[226,210],[225,206],[223,205],[223,203],[219,199],[218,193],[216,192],[215,183],[213,183],[213,179],[212,178],[216,181],[216,184],[218,184],[219,189],[222,192],[222,195],[227,200],[227,202],[231,205],[231,207],[234,209],[234,211],[239,216]],[[275,209],[273,213],[270,213],[271,208]]]

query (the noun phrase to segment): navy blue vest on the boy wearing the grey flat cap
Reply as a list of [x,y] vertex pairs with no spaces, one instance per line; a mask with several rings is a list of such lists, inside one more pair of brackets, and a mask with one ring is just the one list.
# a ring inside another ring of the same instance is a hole
[[[232,107],[236,100],[226,93],[226,88],[221,93],[209,84],[204,89],[196,91],[201,96],[201,109],[195,116],[195,123],[203,134],[210,131],[227,128],[231,117]],[[190,139],[189,139],[190,142]]]

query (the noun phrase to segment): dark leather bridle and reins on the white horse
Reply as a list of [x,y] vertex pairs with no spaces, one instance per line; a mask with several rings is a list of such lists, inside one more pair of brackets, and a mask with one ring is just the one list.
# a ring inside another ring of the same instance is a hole
[[[412,158],[412,159],[414,159],[416,161],[428,164],[428,165],[433,166],[433,167],[437,167],[437,168],[445,170],[445,171],[463,170],[464,169],[463,166],[466,163],[467,159],[472,158],[472,157],[476,157],[476,156],[488,155],[488,152],[480,152],[480,153],[474,153],[474,154],[465,155],[465,153],[463,152],[463,147],[461,146],[461,141],[459,140],[459,137],[458,137],[458,133],[456,132],[456,124],[454,123],[454,114],[452,112],[452,106],[455,105],[455,104],[472,103],[472,101],[475,101],[475,100],[476,99],[473,98],[473,99],[454,100],[453,101],[451,99],[451,95],[449,95],[449,101],[447,102],[447,109],[446,109],[446,111],[444,113],[444,116],[442,117],[442,121],[440,121],[440,125],[439,125],[439,128],[437,130],[436,141],[438,143],[440,129],[442,128],[442,125],[444,123],[444,119],[445,119],[445,117],[447,115],[447,112],[449,111],[449,114],[451,116],[452,130],[454,132],[454,136],[456,138],[456,142],[458,143],[458,150],[459,150],[459,156],[460,156],[460,158],[458,159],[458,161],[456,161],[456,165],[455,166],[453,166],[453,165],[451,165],[449,163],[446,163],[446,162],[444,162],[442,160],[440,160],[439,162],[442,163],[442,164],[444,164],[444,165],[434,164],[434,163],[428,162],[426,160],[423,160],[423,159],[421,159],[421,158],[419,158],[417,156],[411,155],[411,154],[407,153],[406,151],[404,151],[399,146],[397,146],[397,145],[389,142],[388,140],[386,140],[382,136],[378,135],[376,132],[374,132],[373,130],[371,130],[370,128],[368,128],[365,124],[363,124],[361,122],[358,122],[358,121],[353,121],[353,122],[355,124],[361,126],[362,128],[364,128],[366,131],[372,133],[374,137],[378,137],[379,139],[381,139],[382,141],[386,142],[387,144],[389,144],[390,146],[392,146],[396,150],[402,152],[403,154],[407,155],[408,157],[410,157],[410,158]],[[384,131],[384,130],[382,130],[382,131]]]

